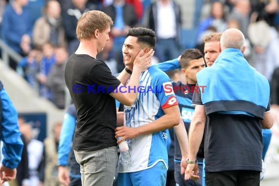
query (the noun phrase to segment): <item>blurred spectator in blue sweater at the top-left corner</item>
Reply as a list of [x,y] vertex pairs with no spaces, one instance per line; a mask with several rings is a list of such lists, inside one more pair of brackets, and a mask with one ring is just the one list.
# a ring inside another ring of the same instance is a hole
[[[26,56],[31,50],[32,23],[30,12],[26,9],[28,0],[14,0],[4,11],[2,20],[2,39],[13,50]],[[17,62],[10,59],[9,65],[16,70]]]

